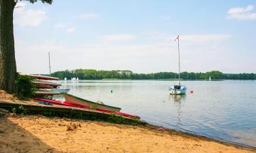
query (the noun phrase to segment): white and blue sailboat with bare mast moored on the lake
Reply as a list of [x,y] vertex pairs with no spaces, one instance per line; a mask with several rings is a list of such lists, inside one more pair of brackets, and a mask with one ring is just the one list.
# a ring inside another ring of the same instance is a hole
[[177,35],[175,41],[177,41],[177,50],[179,52],[179,84],[169,87],[171,95],[184,95],[186,94],[186,86],[180,84],[180,36]]

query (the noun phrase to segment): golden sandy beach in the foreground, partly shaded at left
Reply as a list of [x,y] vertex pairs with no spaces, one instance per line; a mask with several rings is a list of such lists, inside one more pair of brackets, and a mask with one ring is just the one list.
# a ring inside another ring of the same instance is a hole
[[256,152],[176,131],[106,122],[5,115],[0,152]]

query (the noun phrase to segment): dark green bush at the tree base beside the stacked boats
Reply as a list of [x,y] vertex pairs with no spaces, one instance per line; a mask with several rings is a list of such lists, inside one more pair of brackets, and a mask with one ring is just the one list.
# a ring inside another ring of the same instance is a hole
[[33,80],[33,78],[27,75],[17,75],[15,80],[15,95],[18,97],[18,99],[27,100],[33,98],[36,91],[36,88],[32,82]]

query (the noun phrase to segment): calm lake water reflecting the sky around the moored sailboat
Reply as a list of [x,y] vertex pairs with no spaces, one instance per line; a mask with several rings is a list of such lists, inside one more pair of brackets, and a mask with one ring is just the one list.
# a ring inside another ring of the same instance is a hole
[[61,83],[73,95],[122,107],[151,124],[256,147],[255,81],[184,81],[187,94],[177,97],[169,95],[172,81]]

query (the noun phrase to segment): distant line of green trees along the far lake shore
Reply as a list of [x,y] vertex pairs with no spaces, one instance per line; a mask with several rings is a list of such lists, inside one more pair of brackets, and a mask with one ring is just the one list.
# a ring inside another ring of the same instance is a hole
[[[177,79],[178,74],[173,72],[158,73],[132,73],[129,70],[95,70],[95,69],[75,69],[66,71],[56,71],[51,74],[53,77],[63,80],[67,78],[79,78],[79,80],[102,80],[102,79],[128,79],[128,80],[165,80]],[[256,73],[222,73],[221,71],[209,71],[206,73],[182,72],[182,80],[256,80]]]

